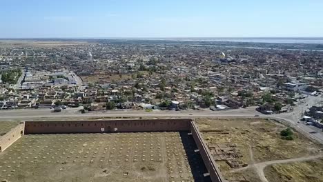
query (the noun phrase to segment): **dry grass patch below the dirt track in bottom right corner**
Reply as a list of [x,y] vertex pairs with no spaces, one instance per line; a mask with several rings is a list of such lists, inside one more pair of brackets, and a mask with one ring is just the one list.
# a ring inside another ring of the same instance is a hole
[[323,159],[271,165],[264,172],[270,182],[323,182]]

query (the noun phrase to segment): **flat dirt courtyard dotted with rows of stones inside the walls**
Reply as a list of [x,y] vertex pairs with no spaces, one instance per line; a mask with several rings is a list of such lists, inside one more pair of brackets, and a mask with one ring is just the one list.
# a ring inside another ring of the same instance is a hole
[[0,153],[0,180],[209,181],[195,149],[187,132],[25,135]]

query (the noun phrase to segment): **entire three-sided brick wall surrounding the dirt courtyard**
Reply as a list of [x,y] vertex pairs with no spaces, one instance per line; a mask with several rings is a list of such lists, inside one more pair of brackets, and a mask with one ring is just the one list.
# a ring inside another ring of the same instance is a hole
[[[97,133],[97,132],[170,132],[190,131],[212,181],[222,182],[217,164],[191,119],[131,119],[106,121],[26,121],[0,138],[1,150],[8,148],[23,134]],[[0,152],[1,152],[0,150]]]

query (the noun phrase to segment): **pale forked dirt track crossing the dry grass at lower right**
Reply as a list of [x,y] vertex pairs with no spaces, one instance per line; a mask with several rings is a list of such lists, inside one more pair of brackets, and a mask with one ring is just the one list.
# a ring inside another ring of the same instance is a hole
[[239,171],[242,171],[242,170],[246,170],[248,168],[253,168],[253,169],[255,169],[255,172],[257,172],[257,174],[260,177],[260,180],[262,182],[268,182],[268,180],[266,179],[266,176],[264,175],[264,168],[266,168],[267,165],[273,165],[273,164],[277,164],[277,163],[291,163],[291,162],[310,161],[310,160],[321,158],[321,157],[323,157],[323,154],[316,155],[316,156],[304,156],[304,157],[295,158],[295,159],[266,161],[266,162],[263,162],[263,163],[251,164],[251,165],[248,165],[247,167],[239,168],[237,170],[231,170],[231,172],[239,172]]

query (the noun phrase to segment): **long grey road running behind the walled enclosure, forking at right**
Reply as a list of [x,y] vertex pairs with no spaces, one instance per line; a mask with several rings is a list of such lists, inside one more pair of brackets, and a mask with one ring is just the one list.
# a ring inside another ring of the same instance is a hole
[[[323,132],[320,129],[313,126],[300,123],[302,112],[311,105],[321,103],[322,97],[309,96],[304,99],[304,103],[297,103],[293,112],[283,114],[271,114],[265,115],[257,112],[256,107],[240,108],[237,110],[224,110],[224,111],[211,111],[211,110],[184,110],[184,111],[153,111],[146,112],[144,110],[113,110],[108,112],[92,112],[81,114],[78,112],[80,108],[68,108],[62,110],[62,112],[51,112],[50,109],[37,109],[37,110],[1,110],[0,121],[32,121],[32,120],[60,120],[60,119],[88,119],[99,117],[163,117],[163,118],[197,118],[197,117],[255,117],[259,115],[263,118],[272,118],[280,121],[284,121],[299,132],[302,132],[306,136],[311,137],[323,143]],[[307,105],[307,106],[306,106]],[[317,133],[310,133],[317,132]]]

